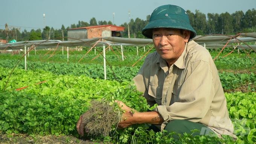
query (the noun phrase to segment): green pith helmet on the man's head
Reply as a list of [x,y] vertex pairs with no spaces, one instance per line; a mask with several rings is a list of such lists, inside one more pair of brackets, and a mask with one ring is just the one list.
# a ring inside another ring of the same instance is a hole
[[197,36],[195,30],[190,26],[186,11],[175,5],[163,5],[156,8],[149,19],[149,23],[142,29],[142,35],[152,39],[152,29],[175,28],[190,31],[190,38]]

